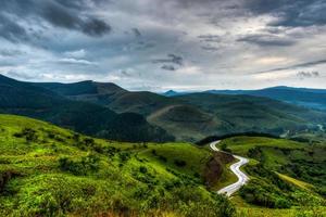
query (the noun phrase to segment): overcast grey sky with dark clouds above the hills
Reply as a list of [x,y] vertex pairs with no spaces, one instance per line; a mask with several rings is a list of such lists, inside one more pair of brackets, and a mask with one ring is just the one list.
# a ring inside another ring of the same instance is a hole
[[325,0],[1,0],[0,74],[129,90],[326,89]]

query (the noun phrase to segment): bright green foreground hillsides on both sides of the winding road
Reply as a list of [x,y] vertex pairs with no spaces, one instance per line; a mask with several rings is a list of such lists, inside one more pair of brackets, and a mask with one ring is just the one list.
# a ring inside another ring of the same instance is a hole
[[251,158],[251,181],[230,200],[215,193],[234,181],[229,155],[189,143],[93,139],[0,115],[0,216],[325,214],[325,144],[235,137],[221,148]]

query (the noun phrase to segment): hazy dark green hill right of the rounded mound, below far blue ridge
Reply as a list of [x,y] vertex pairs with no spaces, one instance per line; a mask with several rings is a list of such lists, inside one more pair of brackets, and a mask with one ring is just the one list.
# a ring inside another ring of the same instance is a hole
[[326,122],[326,114],[267,98],[191,93],[175,97],[227,123],[230,132],[261,131],[280,135]]

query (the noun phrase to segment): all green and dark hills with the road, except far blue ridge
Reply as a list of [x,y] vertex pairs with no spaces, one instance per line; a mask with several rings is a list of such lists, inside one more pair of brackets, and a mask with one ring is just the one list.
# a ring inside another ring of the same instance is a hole
[[321,110],[93,81],[0,90],[0,216],[326,214]]

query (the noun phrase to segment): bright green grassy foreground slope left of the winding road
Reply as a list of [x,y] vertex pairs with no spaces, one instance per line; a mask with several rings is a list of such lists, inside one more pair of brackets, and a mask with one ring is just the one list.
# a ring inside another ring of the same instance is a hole
[[188,143],[105,141],[0,115],[0,216],[227,216],[233,210],[204,188],[201,171],[212,153]]

